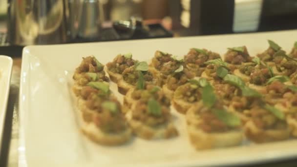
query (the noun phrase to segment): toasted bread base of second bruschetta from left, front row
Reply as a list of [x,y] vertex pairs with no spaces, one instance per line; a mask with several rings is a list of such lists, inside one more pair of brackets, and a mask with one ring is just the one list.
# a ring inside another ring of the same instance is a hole
[[[129,112],[128,114],[131,114],[131,112]],[[145,125],[142,122],[134,119],[130,119],[128,123],[137,136],[146,140],[164,138],[168,139],[178,136],[178,132],[171,122],[164,125],[159,125],[157,127]]]

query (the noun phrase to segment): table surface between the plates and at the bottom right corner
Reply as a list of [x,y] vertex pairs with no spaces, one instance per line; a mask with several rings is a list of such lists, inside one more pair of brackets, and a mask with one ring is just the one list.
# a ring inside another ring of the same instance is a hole
[[[21,58],[13,58],[13,71],[9,102],[7,106],[6,121],[4,127],[4,139],[1,154],[0,167],[18,167],[18,146],[19,146],[19,110],[18,97],[20,88]],[[3,149],[4,147],[4,149]],[[251,165],[245,165],[251,166]],[[283,160],[281,162],[269,162],[257,164],[257,167],[297,167],[297,160]]]

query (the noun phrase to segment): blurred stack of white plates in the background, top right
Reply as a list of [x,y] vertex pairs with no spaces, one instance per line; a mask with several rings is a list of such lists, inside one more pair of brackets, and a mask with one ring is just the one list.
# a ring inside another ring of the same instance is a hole
[[233,32],[256,31],[261,9],[262,0],[235,0]]

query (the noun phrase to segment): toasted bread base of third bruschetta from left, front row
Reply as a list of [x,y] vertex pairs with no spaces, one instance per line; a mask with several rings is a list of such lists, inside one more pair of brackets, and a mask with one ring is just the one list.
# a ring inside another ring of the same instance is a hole
[[227,132],[212,132],[207,133],[196,125],[202,121],[195,114],[195,109],[203,105],[201,102],[193,105],[186,114],[188,123],[188,134],[191,144],[198,150],[221,148],[228,146],[238,146],[242,143],[243,133],[240,129],[234,129]]

